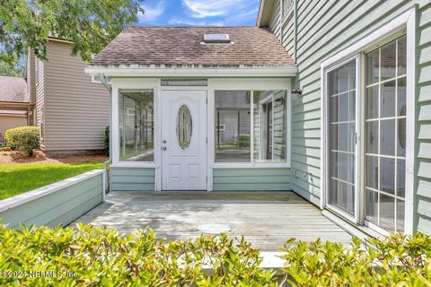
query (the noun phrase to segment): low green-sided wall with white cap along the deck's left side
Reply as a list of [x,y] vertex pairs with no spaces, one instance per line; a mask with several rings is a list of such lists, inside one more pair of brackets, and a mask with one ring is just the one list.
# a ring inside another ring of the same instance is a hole
[[100,204],[102,195],[103,170],[92,170],[0,201],[0,219],[13,229],[21,222],[66,226]]

